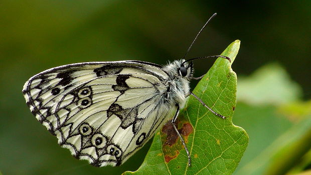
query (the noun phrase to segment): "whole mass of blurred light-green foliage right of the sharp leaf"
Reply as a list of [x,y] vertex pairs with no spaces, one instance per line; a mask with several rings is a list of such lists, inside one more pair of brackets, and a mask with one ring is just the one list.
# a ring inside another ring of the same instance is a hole
[[237,89],[233,121],[250,140],[234,174],[294,174],[311,164],[311,103],[300,100],[285,70],[266,65],[240,79]]

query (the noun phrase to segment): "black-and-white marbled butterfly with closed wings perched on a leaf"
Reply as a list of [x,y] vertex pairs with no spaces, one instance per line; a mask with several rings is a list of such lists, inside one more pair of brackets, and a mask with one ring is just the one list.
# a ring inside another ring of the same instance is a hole
[[58,143],[94,166],[122,164],[168,121],[191,165],[174,123],[190,95],[225,118],[190,91],[190,80],[202,78],[193,77],[193,60],[212,57],[230,61],[216,55],[183,58],[165,66],[135,60],[69,64],[31,77],[23,94],[33,115]]

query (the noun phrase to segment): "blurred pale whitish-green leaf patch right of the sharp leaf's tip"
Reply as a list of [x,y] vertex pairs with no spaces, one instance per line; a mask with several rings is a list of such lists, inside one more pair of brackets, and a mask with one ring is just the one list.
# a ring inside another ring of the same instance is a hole
[[265,65],[251,76],[239,79],[238,99],[248,104],[287,104],[301,96],[300,86],[278,64]]

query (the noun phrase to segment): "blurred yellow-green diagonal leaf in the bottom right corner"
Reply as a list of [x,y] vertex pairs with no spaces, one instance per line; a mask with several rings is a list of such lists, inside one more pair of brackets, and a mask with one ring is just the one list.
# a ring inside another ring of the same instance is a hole
[[236,174],[285,174],[310,150],[310,139],[311,115],[275,139]]

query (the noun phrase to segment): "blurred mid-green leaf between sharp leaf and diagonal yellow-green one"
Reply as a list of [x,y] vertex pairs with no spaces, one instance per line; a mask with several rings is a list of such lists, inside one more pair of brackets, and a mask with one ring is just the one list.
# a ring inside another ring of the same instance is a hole
[[264,149],[293,125],[292,121],[278,112],[278,108],[272,104],[252,106],[241,102],[237,103],[233,122],[243,126],[251,138],[243,158],[234,172],[236,175],[251,174],[249,171],[253,166],[248,166],[248,164],[252,162],[258,165],[258,162],[261,161],[254,160],[255,157],[262,154]]

